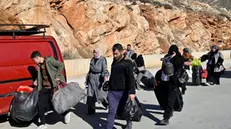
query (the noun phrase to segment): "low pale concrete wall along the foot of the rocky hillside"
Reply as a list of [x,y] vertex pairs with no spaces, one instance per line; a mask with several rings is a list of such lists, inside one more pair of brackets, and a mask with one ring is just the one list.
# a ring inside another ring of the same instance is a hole
[[[231,50],[221,51],[225,59],[231,58]],[[206,52],[194,52],[193,56],[199,58]],[[162,58],[165,54],[144,55],[144,61],[147,68],[160,67]],[[65,60],[65,67],[67,76],[80,76],[87,74],[91,59],[74,59]],[[107,58],[108,70],[111,69],[112,57]]]

